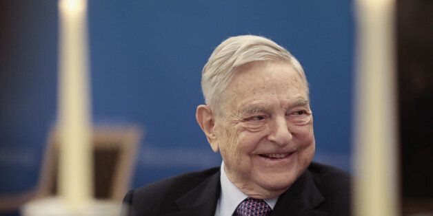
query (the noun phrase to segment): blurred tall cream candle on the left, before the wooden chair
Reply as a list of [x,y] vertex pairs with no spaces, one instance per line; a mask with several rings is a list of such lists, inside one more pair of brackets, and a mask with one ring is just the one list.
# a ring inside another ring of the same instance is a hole
[[72,209],[92,198],[87,1],[60,0],[59,195]]

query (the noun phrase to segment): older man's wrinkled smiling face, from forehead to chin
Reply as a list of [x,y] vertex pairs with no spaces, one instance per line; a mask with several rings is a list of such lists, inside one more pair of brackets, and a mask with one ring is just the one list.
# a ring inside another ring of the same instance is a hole
[[214,131],[229,179],[252,197],[283,193],[314,156],[301,78],[284,61],[248,63],[236,69],[221,97]]

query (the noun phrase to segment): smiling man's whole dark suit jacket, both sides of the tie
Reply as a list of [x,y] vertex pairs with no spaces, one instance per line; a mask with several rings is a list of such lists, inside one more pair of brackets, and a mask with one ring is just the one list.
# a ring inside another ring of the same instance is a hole
[[[219,167],[187,173],[129,191],[125,215],[214,215],[221,191]],[[350,215],[350,177],[312,162],[276,202],[271,215]]]

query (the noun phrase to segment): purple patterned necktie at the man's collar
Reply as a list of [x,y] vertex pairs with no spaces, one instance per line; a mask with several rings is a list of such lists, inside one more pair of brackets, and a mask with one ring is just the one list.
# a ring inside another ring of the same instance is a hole
[[234,211],[234,215],[254,215],[263,216],[270,215],[272,208],[263,199],[254,199],[248,197],[239,204]]

